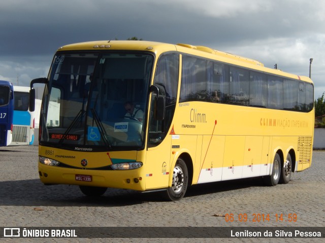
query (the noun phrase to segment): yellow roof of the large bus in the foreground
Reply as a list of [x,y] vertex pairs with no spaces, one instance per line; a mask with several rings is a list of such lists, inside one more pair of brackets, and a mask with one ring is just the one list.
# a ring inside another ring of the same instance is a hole
[[166,51],[179,51],[191,55],[201,56],[216,61],[243,66],[258,71],[272,73],[275,75],[285,76],[294,79],[300,79],[308,83],[312,80],[307,76],[299,76],[280,69],[273,69],[265,67],[262,62],[254,59],[233,55],[226,52],[221,52],[215,49],[204,46],[193,46],[188,44],[166,44],[160,42],[149,41],[93,41],[70,44],[60,47],[58,51],[76,51],[76,50],[136,50],[136,51],[149,51],[155,54],[160,54]]

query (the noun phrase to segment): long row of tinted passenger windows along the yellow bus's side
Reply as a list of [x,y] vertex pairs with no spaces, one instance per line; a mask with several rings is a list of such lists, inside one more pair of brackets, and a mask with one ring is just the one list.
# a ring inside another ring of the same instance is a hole
[[313,85],[183,56],[180,102],[208,101],[308,112],[313,109]]

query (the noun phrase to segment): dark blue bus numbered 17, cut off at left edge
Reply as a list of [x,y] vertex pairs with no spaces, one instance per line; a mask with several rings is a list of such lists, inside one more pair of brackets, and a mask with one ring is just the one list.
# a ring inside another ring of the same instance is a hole
[[0,80],[0,146],[12,141],[14,115],[14,87],[8,81]]

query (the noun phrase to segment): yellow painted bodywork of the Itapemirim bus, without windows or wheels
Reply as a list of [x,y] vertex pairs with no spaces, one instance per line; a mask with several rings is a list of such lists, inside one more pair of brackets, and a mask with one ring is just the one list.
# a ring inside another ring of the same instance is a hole
[[[67,45],[58,51],[101,49],[152,52],[157,57],[153,72],[160,54],[177,51],[180,57],[193,55],[312,83],[308,77],[267,68],[252,59],[186,44],[98,41]],[[180,67],[181,65],[180,58]],[[87,152],[40,146],[40,156],[58,160],[71,167],[54,167],[39,163],[40,178],[45,184],[89,185],[143,191],[171,186],[173,170],[179,157],[189,158],[187,165],[192,169],[192,181],[189,184],[198,184],[270,175],[275,154],[282,152],[282,159],[285,160],[290,151],[294,151],[296,156],[293,161],[296,171],[302,171],[311,166],[313,127],[314,110],[306,113],[177,101],[171,127],[164,141],[156,147],[145,147],[143,151]],[[87,167],[81,165],[83,159],[88,161]],[[128,171],[95,170],[123,160],[141,161],[143,166]],[[76,175],[91,175],[92,181],[76,181]],[[135,182],[137,180],[139,182]]]

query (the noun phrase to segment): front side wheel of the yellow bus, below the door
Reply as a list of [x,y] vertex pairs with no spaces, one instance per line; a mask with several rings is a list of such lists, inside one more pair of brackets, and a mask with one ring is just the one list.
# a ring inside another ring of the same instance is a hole
[[178,158],[173,171],[172,186],[167,189],[167,198],[178,201],[185,195],[188,184],[187,167],[183,159]]

